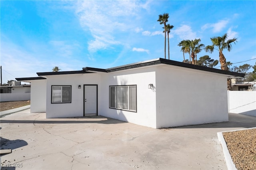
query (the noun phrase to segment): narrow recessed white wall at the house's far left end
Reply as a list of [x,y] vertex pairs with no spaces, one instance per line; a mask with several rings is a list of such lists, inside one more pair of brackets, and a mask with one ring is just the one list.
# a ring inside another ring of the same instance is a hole
[[31,80],[30,112],[46,112],[46,79]]

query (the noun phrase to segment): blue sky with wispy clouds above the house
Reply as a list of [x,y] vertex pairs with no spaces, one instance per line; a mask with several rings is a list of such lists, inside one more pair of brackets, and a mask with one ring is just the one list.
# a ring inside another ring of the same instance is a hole
[[[110,68],[164,58],[163,25],[169,13],[170,59],[182,61],[178,43],[227,33],[237,38],[227,61],[256,62],[256,1],[0,1],[3,83],[36,72]],[[167,48],[166,48],[167,49]],[[168,56],[168,54],[166,53]],[[218,59],[218,51],[209,55]],[[189,59],[188,54],[185,54]],[[219,65],[218,65],[219,66]],[[252,71],[252,69],[250,70]]]

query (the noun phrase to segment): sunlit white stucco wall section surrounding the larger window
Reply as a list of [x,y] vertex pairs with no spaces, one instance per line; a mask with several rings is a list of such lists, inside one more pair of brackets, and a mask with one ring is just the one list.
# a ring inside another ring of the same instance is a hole
[[[148,84],[155,85],[155,79],[153,67],[102,74],[99,115],[156,128],[156,92],[148,89]],[[110,85],[137,85],[137,113],[109,108]]]

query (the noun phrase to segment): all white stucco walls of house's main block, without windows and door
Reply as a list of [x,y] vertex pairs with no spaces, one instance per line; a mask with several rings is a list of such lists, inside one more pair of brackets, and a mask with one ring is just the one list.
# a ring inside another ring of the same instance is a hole
[[[148,84],[154,89],[148,89]],[[115,71],[50,75],[46,118],[82,117],[84,86],[98,85],[98,115],[152,128],[228,121],[225,75],[172,65]],[[51,103],[52,85],[71,85],[71,103]],[[81,85],[81,89],[78,89]],[[109,86],[136,85],[137,112],[109,108]]]

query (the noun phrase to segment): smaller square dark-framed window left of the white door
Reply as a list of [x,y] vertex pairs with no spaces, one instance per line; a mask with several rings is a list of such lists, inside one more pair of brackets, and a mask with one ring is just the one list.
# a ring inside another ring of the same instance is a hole
[[52,103],[71,103],[71,85],[52,85]]

